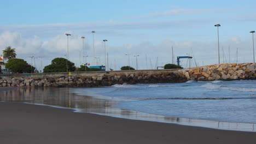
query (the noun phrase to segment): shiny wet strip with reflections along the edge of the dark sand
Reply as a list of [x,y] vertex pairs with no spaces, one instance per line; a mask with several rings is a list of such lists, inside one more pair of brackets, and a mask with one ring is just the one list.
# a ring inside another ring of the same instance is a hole
[[0,88],[0,101],[26,102],[32,104],[67,107],[77,112],[99,115],[206,127],[225,130],[256,131],[251,123],[229,123],[153,115],[114,107],[118,101],[78,95],[75,88]]

